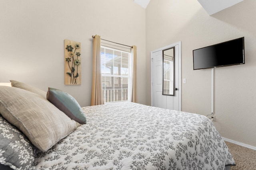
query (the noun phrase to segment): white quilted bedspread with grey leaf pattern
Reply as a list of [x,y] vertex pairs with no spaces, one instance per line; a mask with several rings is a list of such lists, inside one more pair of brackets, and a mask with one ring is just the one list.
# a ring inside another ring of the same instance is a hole
[[203,115],[130,102],[82,109],[87,124],[38,150],[37,169],[223,170],[235,164]]

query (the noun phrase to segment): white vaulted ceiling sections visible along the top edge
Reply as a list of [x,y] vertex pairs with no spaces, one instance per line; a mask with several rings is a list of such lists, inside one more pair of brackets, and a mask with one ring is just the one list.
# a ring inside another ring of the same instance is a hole
[[[243,0],[198,0],[209,15],[215,14],[242,1]],[[150,0],[134,0],[134,2],[143,8],[147,8]],[[159,3],[161,3],[161,1],[159,1]]]

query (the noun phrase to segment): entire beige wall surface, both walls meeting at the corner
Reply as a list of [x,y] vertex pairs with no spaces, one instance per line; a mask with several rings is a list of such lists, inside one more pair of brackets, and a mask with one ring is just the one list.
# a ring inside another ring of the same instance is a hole
[[[145,10],[133,0],[3,1],[0,82],[13,79],[45,91],[48,86],[59,88],[89,106],[91,37],[98,34],[137,45],[138,102],[150,105],[150,51],[182,41],[182,78],[187,79],[182,110],[207,115],[211,70],[193,70],[192,50],[244,36],[246,64],[215,69],[214,125],[223,137],[256,146],[256,1],[240,2],[212,16],[197,0],[158,2],[151,0]],[[81,42],[80,86],[64,85],[64,39]]]

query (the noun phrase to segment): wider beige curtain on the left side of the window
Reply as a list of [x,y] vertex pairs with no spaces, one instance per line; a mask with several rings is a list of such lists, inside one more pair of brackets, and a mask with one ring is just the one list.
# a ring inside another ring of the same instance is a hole
[[100,104],[104,104],[100,66],[100,35],[95,35],[93,40],[93,75],[91,106]]

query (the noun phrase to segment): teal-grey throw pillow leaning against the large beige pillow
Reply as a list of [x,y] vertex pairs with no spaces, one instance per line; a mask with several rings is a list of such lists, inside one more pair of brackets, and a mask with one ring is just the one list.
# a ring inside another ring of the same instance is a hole
[[86,123],[86,117],[82,108],[70,94],[58,90],[56,88],[48,88],[47,100],[49,100],[54,106],[63,111],[70,119],[77,121],[78,123]]

